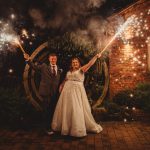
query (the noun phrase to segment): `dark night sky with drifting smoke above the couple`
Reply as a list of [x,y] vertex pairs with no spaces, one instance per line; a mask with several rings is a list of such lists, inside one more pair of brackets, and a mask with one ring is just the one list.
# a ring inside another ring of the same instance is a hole
[[[103,19],[122,10],[137,0],[0,0],[0,26],[10,23],[13,30],[23,38],[23,47],[31,54],[35,48],[49,37],[62,35],[87,27],[89,19],[100,16]],[[1,26],[2,28],[2,26]],[[0,74],[5,75],[10,68],[21,76],[24,59],[20,53],[0,50]]]

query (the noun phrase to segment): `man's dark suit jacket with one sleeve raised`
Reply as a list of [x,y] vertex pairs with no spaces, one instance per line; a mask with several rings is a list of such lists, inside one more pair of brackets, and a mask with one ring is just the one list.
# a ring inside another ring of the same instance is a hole
[[45,63],[41,65],[36,65],[32,61],[28,61],[28,64],[37,71],[41,72],[41,81],[39,86],[39,94],[41,96],[53,96],[58,93],[58,88],[60,84],[60,76],[62,69],[57,70],[57,75],[52,74],[50,65]]

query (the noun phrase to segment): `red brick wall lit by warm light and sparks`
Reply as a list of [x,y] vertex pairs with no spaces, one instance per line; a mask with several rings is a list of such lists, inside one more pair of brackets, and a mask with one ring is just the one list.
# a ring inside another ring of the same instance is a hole
[[[141,30],[138,31],[140,35],[134,34],[132,38],[127,40],[128,44],[124,44],[119,39],[116,39],[112,44],[109,55],[109,92],[111,98],[121,90],[134,88],[140,82],[150,81],[147,60],[148,42],[150,42],[149,6],[150,1],[141,0],[119,13],[125,20],[133,14],[136,15]],[[113,20],[115,17],[116,15],[109,19]],[[128,34],[126,32],[126,36]]]

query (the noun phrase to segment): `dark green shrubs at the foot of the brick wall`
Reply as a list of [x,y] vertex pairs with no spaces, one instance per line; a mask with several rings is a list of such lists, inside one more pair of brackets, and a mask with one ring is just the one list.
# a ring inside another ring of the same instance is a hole
[[150,112],[150,83],[140,83],[133,90],[119,92],[113,101],[121,106],[136,107]]

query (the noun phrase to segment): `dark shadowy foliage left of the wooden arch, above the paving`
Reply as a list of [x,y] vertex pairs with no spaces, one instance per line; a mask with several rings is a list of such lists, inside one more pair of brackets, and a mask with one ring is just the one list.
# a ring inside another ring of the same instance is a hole
[[30,128],[40,118],[20,88],[0,87],[0,95],[1,126]]

